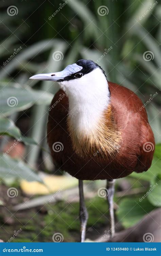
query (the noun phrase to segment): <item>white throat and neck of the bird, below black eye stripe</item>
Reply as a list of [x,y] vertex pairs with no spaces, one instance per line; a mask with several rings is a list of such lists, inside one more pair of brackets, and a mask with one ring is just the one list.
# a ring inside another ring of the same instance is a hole
[[93,133],[110,100],[108,82],[102,70],[96,68],[80,79],[61,82],[60,87],[69,98],[72,130],[78,136]]

